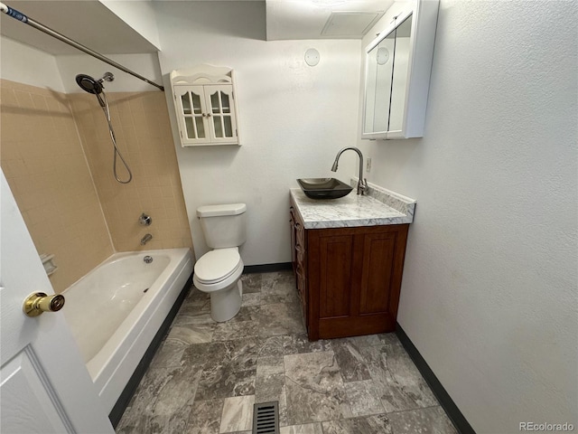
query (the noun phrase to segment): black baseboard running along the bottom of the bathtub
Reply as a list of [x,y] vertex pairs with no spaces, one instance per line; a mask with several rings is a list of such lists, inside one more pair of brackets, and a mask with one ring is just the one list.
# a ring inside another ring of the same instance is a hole
[[128,407],[128,403],[133,398],[133,395],[135,394],[138,384],[143,379],[144,373],[146,373],[149,364],[151,364],[151,362],[153,361],[153,357],[154,354],[156,353],[156,350],[158,350],[160,344],[163,342],[164,336],[169,332],[172,320],[177,315],[177,312],[179,312],[179,308],[181,307],[184,298],[187,297],[191,285],[192,285],[192,274],[187,280],[187,283],[184,284],[181,294],[179,294],[179,297],[177,297],[176,301],[174,302],[174,305],[172,305],[169,315],[167,315],[166,318],[164,318],[161,328],[159,328],[159,330],[156,332],[156,335],[154,335],[153,341],[151,342],[150,345],[148,345],[148,348],[146,349],[143,358],[141,359],[140,363],[138,363],[138,366],[136,366],[135,372],[130,377],[130,380],[128,380],[128,382],[126,383],[125,389],[120,394],[117,403],[115,404],[113,409],[110,410],[110,414],[108,414],[108,419],[112,423],[113,428],[115,429],[117,428],[118,422],[120,422],[120,419],[123,417],[126,407]]

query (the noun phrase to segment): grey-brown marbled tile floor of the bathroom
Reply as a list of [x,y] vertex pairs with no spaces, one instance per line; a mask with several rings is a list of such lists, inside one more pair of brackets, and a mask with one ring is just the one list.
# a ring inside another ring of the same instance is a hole
[[309,342],[291,271],[242,279],[226,323],[191,288],[117,433],[249,434],[266,401],[281,434],[457,432],[396,335]]

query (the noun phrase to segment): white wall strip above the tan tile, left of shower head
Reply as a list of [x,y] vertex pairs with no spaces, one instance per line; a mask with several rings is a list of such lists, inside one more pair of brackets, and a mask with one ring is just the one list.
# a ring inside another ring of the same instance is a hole
[[5,36],[0,36],[0,77],[39,88],[64,91],[53,55]]

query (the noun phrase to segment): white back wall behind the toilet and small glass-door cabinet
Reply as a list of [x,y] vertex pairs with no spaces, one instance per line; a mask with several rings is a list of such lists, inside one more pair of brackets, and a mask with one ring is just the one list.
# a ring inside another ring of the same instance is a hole
[[[360,42],[265,42],[263,2],[157,2],[155,7],[167,89],[172,70],[200,63],[231,67],[237,77],[243,145],[177,145],[197,257],[207,247],[195,210],[244,202],[249,222],[244,262],[290,261],[289,188],[297,186],[295,178],[335,175],[335,155],[357,141]],[[321,54],[315,67],[304,62],[308,48]],[[174,117],[170,93],[167,99]],[[342,180],[357,165],[357,156],[348,154],[337,174]]]

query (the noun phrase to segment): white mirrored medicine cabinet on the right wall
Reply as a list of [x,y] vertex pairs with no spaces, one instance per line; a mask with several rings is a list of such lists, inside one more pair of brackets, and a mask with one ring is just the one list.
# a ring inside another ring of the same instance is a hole
[[361,138],[424,136],[439,0],[404,7],[366,48]]

